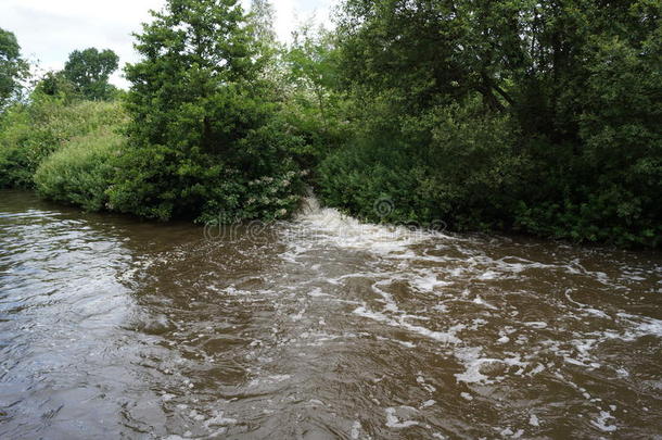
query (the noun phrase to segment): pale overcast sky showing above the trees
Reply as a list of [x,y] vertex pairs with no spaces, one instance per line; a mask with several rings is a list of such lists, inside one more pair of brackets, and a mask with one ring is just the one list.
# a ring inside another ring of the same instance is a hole
[[[315,15],[330,24],[329,12],[334,0],[272,0],[276,30],[287,41],[297,23]],[[18,38],[24,56],[38,61],[41,70],[61,70],[73,50],[96,47],[112,49],[120,65],[135,62],[132,32],[150,20],[150,9],[161,9],[164,0],[0,0],[0,28]],[[242,0],[245,7],[250,0]],[[119,73],[113,83],[126,81]]]

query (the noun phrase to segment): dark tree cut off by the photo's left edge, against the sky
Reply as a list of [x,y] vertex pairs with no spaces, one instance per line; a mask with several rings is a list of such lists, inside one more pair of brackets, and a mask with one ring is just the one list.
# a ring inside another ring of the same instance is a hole
[[16,95],[27,74],[28,64],[21,58],[16,36],[0,28],[0,110]]

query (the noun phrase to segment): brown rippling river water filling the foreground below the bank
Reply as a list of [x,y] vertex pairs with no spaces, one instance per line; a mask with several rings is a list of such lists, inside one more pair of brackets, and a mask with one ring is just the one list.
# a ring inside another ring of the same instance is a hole
[[661,438],[662,256],[0,192],[0,438]]

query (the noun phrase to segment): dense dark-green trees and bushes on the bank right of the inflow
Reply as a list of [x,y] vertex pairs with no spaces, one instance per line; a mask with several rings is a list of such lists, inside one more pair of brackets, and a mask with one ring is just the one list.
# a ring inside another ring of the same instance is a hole
[[324,200],[370,216],[390,197],[392,221],[659,246],[661,8],[347,0],[339,72],[362,110],[353,144],[322,164]]

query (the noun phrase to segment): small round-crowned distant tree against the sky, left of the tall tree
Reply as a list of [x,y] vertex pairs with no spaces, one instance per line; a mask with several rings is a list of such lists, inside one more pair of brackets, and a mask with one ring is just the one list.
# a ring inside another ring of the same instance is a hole
[[117,70],[118,63],[119,58],[110,49],[75,50],[64,66],[64,76],[87,99],[107,100],[114,91],[109,78]]

